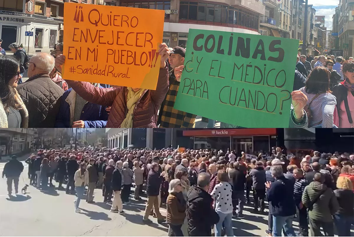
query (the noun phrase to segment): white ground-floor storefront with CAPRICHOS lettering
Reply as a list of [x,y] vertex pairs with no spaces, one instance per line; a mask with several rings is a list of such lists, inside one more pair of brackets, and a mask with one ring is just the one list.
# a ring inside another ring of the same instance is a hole
[[[33,36],[25,36],[32,31]],[[8,45],[13,42],[22,44],[29,54],[50,53],[62,36],[63,19],[32,15],[23,12],[0,11],[1,47],[10,51]]]

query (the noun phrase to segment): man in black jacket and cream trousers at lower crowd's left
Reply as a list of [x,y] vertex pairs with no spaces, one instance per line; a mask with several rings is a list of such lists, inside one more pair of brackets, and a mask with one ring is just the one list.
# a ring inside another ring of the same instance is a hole
[[112,173],[112,190],[114,192],[111,212],[119,212],[120,214],[125,213],[123,210],[122,199],[120,196],[120,191],[122,190],[123,177],[122,177],[122,163],[117,161],[115,164],[115,169]]

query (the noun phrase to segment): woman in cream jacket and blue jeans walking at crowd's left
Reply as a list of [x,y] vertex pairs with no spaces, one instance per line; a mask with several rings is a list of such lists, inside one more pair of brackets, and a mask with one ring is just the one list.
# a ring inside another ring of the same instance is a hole
[[87,172],[86,170],[85,162],[80,163],[79,169],[76,170],[74,174],[74,180],[75,180],[76,196],[78,197],[74,202],[75,212],[80,213],[80,209],[79,209],[80,200],[84,196],[85,187],[89,184],[89,172]]

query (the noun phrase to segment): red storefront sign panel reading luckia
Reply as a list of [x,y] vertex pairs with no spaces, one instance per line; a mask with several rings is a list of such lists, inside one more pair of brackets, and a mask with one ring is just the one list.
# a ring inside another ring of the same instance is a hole
[[183,131],[186,137],[221,137],[221,136],[252,136],[276,135],[276,128],[232,128],[232,129],[193,129]]

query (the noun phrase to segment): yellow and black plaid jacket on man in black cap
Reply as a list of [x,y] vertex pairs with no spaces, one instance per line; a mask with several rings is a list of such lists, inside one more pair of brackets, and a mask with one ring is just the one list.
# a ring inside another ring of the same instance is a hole
[[194,128],[196,115],[173,109],[179,87],[173,76],[170,76],[170,88],[161,104],[158,124],[160,128]]

